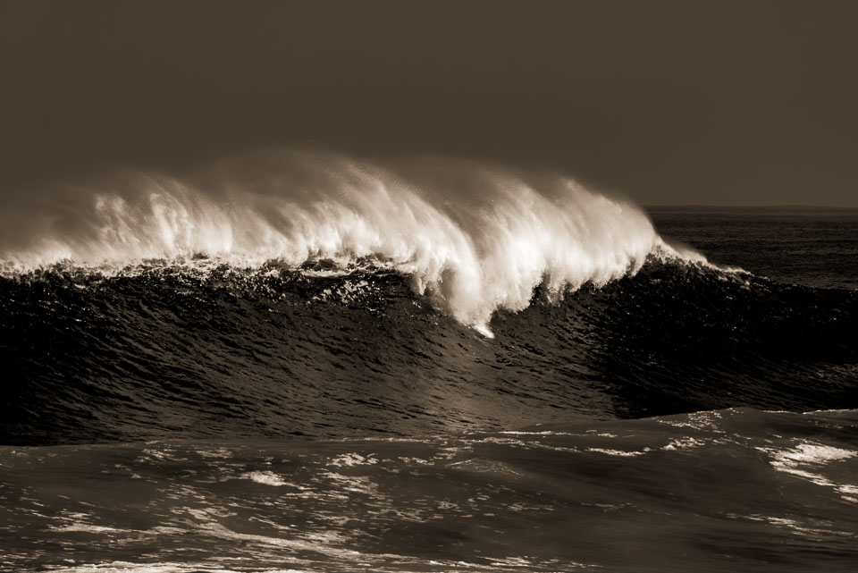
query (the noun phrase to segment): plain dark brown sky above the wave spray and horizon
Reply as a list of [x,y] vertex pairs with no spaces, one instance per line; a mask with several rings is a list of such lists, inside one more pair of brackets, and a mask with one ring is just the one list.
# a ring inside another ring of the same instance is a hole
[[858,206],[858,2],[0,3],[2,189],[295,145]]

